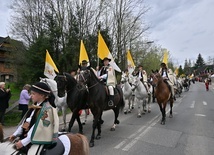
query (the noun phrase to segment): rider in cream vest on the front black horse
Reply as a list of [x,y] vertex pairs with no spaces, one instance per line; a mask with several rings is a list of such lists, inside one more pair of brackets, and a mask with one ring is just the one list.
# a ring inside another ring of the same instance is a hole
[[98,72],[98,79],[103,80],[109,90],[108,106],[114,106],[114,88],[116,86],[116,77],[114,68],[109,64],[111,59],[105,57],[102,62],[103,65]]

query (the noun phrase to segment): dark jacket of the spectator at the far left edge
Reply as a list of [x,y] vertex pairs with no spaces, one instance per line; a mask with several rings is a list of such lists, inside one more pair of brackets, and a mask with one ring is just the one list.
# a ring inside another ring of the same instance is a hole
[[0,89],[0,111],[5,111],[9,107],[11,92],[6,92]]

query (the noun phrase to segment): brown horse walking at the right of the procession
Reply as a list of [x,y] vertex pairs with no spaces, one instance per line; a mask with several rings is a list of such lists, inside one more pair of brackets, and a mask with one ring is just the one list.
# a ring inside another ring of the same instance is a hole
[[173,98],[171,97],[171,91],[168,84],[163,80],[162,76],[159,73],[153,73],[151,77],[153,79],[152,85],[155,86],[155,97],[157,99],[157,103],[162,113],[161,124],[164,125],[166,121],[166,105],[168,101],[170,101],[169,117],[170,118],[173,117],[172,115]]

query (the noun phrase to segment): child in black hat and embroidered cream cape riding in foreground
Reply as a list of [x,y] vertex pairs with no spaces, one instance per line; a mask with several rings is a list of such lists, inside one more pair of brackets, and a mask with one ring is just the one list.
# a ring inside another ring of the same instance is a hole
[[[58,137],[59,118],[55,108],[51,90],[47,84],[38,82],[31,87],[33,105],[29,108],[21,125],[9,137],[13,141],[20,135],[15,143],[20,153],[27,154],[32,144],[52,144]],[[57,141],[57,145],[60,142]]]

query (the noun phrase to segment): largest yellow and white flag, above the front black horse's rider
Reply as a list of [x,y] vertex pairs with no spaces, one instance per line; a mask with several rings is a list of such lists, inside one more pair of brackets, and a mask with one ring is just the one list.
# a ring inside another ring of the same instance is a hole
[[121,69],[117,66],[117,64],[114,61],[114,58],[112,54],[110,53],[101,33],[99,32],[98,35],[98,50],[97,50],[97,55],[100,59],[104,59],[105,57],[111,59],[109,64],[118,72],[121,72]]

